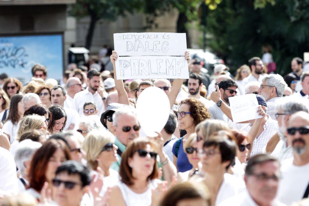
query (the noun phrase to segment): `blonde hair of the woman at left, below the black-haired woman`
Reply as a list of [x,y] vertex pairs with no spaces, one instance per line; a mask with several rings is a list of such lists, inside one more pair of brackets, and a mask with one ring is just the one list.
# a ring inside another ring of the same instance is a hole
[[19,129],[17,132],[17,141],[20,141],[20,137],[24,132],[31,129],[38,129],[45,122],[45,117],[40,115],[27,115],[24,116],[19,123]]

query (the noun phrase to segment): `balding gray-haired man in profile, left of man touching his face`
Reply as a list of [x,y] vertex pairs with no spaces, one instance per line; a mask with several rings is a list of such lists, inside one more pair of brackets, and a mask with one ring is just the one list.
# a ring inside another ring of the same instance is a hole
[[82,91],[82,82],[77,77],[71,77],[66,81],[66,101],[64,101],[64,106],[73,109],[73,98],[75,94]]

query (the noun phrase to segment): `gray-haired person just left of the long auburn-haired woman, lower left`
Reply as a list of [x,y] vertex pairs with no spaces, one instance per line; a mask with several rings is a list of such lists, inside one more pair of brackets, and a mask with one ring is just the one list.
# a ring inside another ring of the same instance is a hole
[[41,143],[26,139],[21,141],[15,152],[15,162],[19,170],[18,193],[26,190],[29,185],[30,177],[28,169],[30,166],[32,155],[42,146]]

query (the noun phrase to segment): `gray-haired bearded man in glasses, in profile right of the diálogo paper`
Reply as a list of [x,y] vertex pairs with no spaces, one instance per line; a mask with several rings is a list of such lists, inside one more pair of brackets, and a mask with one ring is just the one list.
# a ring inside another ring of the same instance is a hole
[[276,106],[282,100],[286,87],[286,82],[279,74],[269,74],[262,79],[258,93],[266,100],[267,114],[273,120],[276,119]]

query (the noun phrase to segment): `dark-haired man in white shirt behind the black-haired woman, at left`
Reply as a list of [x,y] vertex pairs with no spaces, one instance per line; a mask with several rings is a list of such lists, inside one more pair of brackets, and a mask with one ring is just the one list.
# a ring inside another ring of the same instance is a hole
[[76,130],[79,127],[79,115],[74,109],[64,107],[66,100],[66,90],[60,85],[54,86],[51,90],[51,99],[53,105],[60,105],[66,112],[66,126],[64,130]]

